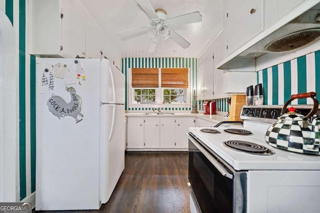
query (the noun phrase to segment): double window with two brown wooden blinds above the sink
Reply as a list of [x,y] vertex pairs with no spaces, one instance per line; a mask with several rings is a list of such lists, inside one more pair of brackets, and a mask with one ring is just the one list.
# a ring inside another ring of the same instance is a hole
[[130,103],[186,104],[188,68],[132,68]]

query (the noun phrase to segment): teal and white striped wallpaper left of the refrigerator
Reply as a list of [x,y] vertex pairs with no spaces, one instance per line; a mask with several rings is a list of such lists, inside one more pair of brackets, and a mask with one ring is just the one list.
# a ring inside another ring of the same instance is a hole
[[5,0],[5,14],[18,41],[20,201],[35,192],[35,57],[27,51],[27,2]]

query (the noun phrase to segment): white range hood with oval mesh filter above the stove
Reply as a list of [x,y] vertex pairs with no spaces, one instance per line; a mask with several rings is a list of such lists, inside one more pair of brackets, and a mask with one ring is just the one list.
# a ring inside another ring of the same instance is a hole
[[[238,69],[237,67],[239,67],[240,61],[246,68],[254,67],[255,58],[261,55],[266,53],[287,53],[311,44],[318,39],[320,39],[320,3],[273,32],[265,34],[262,39],[244,51],[235,53],[236,55],[233,57],[230,55],[232,58],[224,62],[222,61],[217,65],[217,68],[228,70]],[[241,70],[241,68],[238,70]]]

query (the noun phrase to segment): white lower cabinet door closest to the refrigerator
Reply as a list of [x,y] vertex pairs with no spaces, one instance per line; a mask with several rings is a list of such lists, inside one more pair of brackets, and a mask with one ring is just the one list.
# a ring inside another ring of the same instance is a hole
[[128,117],[127,118],[127,149],[143,149],[143,117]]

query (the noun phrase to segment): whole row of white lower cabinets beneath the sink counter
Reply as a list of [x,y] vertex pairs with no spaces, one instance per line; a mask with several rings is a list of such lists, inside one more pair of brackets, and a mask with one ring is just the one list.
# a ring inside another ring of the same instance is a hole
[[127,117],[127,149],[187,149],[194,117]]

